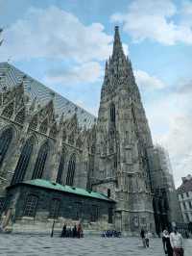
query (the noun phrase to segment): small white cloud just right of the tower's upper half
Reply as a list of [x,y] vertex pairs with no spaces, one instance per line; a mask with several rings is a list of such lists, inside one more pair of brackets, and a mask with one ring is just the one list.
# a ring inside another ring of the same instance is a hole
[[148,90],[148,89],[163,89],[166,85],[156,78],[156,76],[150,76],[147,72],[143,70],[134,70],[134,76],[136,83],[139,88]]

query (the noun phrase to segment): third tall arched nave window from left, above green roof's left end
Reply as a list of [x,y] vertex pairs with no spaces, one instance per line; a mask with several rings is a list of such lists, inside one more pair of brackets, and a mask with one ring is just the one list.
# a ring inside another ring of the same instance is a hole
[[48,144],[48,141],[46,141],[43,145],[41,145],[39,149],[32,179],[40,179],[42,177],[48,152],[49,152],[49,144]]

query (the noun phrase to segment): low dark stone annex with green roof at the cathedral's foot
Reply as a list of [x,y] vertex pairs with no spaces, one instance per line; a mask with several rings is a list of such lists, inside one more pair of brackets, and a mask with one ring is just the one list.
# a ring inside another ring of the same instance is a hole
[[[40,183],[45,186],[38,186]],[[51,183],[50,185],[52,186]],[[82,194],[78,194],[78,189],[75,188],[74,192],[64,192],[56,183],[52,186],[55,189],[51,186],[49,187],[47,181],[34,180],[34,183],[20,183],[8,187],[7,207],[10,215],[3,217],[2,225],[8,224],[6,228],[14,233],[38,234],[51,233],[54,220],[55,230],[58,231],[62,229],[63,223],[72,228],[79,222],[86,231],[99,232],[113,228],[113,200],[104,195],[97,198],[97,194],[92,194],[93,192],[86,192],[90,196],[84,195],[84,190],[81,190]]]

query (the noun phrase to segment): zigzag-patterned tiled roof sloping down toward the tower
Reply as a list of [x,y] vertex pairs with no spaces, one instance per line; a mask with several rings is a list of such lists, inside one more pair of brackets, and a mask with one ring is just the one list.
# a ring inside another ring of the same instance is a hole
[[36,81],[36,79],[14,67],[12,64],[0,63],[0,90],[3,90],[5,87],[9,89],[17,86],[22,81],[24,84],[24,91],[30,96],[30,101],[36,98],[37,104],[44,106],[53,99],[58,119],[62,113],[65,119],[76,113],[80,126],[85,126],[86,128],[90,128],[96,121],[94,115],[89,114],[83,108],[64,98],[56,91],[44,86]]

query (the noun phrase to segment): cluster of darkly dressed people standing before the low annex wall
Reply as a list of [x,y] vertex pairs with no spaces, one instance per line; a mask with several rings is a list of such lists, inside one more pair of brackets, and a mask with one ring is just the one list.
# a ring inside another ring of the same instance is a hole
[[78,224],[78,226],[75,224],[73,228],[69,227],[67,228],[66,224],[64,223],[62,227],[62,232],[60,235],[61,238],[83,238],[83,228],[81,223]]

